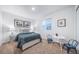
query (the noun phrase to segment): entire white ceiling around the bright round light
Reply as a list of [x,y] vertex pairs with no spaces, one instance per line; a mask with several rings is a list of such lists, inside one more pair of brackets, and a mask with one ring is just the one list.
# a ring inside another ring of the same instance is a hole
[[[48,15],[50,13],[56,12],[58,10],[62,10],[68,7],[72,7],[73,5],[4,5],[0,6],[2,9],[8,9],[8,12],[10,9],[14,11],[20,11],[20,13],[27,14],[28,16],[32,18],[40,18],[45,15]],[[32,7],[35,7],[35,11],[32,11]]]

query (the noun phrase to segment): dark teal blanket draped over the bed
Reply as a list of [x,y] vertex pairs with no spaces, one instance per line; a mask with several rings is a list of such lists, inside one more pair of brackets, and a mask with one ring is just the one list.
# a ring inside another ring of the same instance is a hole
[[39,39],[40,42],[41,42],[42,38],[41,38],[40,34],[35,33],[35,32],[28,32],[28,33],[19,33],[19,34],[16,36],[15,41],[18,42],[17,47],[18,47],[18,48],[22,48],[22,46],[23,46],[25,43],[28,43],[28,42],[30,42],[30,41],[37,40],[37,39]]

